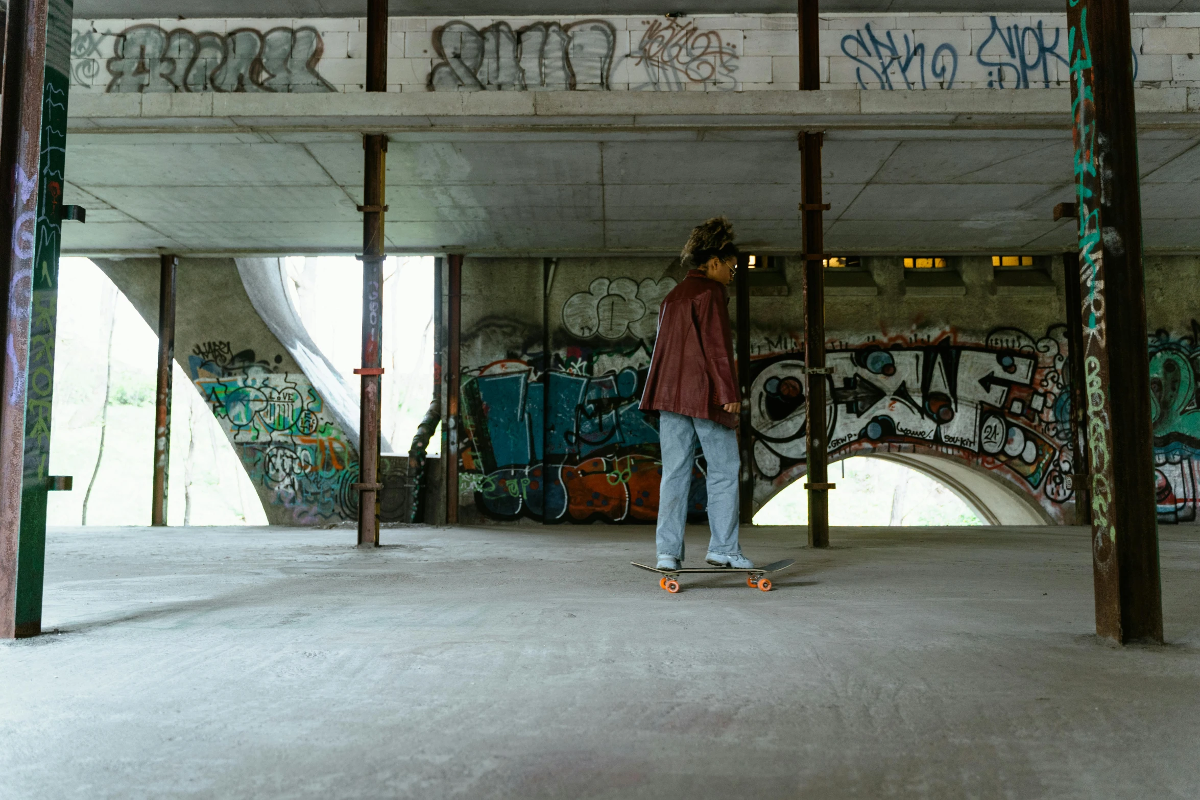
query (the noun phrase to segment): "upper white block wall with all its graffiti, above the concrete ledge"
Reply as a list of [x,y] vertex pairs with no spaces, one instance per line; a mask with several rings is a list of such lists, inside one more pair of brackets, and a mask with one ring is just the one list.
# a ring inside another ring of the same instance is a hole
[[[823,89],[1068,86],[1064,14],[822,16]],[[362,91],[361,18],[76,20],[72,91]],[[798,88],[791,14],[394,17],[389,91]],[[1200,86],[1200,14],[1134,14],[1140,86]]]

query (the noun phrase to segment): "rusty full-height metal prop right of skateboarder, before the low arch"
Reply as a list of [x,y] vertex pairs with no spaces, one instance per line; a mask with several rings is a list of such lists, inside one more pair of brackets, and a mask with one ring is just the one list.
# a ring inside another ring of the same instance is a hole
[[[821,43],[817,0],[799,0],[800,91],[821,90]],[[829,452],[826,441],[827,373],[824,362],[824,190],[821,145],[824,133],[800,133],[800,219],[804,233],[804,368],[808,426],[805,433],[809,492],[809,546],[829,546]]]

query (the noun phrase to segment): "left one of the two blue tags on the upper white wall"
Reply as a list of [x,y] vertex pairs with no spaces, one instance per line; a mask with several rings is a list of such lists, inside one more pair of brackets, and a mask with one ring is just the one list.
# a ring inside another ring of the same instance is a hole
[[[995,18],[992,18],[995,20]],[[928,89],[925,79],[925,67],[929,67],[929,77],[937,82],[942,89],[954,88],[954,77],[959,72],[959,53],[953,44],[943,42],[934,48],[934,55],[926,64],[925,46],[917,42],[917,35],[912,38],[908,34],[902,34],[904,53],[896,44],[892,31],[887,31],[881,40],[871,30],[871,24],[866,23],[863,30],[847,34],[841,37],[841,52],[856,61],[859,66],[854,68],[858,85],[869,89],[863,77],[863,70],[870,72],[872,83],[880,89],[895,89],[900,84],[901,89]],[[854,55],[850,46],[856,44],[862,56]],[[874,60],[868,60],[874,59]],[[893,80],[895,78],[895,80]]]

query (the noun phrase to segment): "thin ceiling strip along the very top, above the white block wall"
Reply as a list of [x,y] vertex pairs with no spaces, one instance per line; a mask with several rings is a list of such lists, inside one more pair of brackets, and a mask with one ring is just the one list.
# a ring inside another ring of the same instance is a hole
[[[366,0],[77,0],[79,19],[163,17],[361,17]],[[1195,12],[1200,0],[1130,0],[1135,13]],[[824,13],[1036,12],[1064,13],[1066,0],[823,0]],[[654,16],[668,12],[796,13],[794,0],[390,0],[395,17],[568,14]]]

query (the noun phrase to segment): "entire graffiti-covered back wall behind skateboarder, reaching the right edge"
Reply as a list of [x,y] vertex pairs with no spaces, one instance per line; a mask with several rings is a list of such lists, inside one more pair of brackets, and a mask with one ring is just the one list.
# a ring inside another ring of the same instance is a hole
[[[1081,469],[1069,431],[1061,296],[1001,301],[985,259],[962,259],[965,297],[914,306],[902,300],[901,276],[892,275],[896,259],[866,260],[877,297],[827,297],[830,458],[950,458],[1025,497],[1045,518],[1072,523],[1070,476]],[[1175,285],[1176,260],[1148,263],[1152,299]],[[476,314],[463,336],[463,509],[496,521],[653,522],[656,422],[637,404],[658,307],[682,277],[678,267],[661,259],[563,259],[553,271],[522,263],[524,271],[514,276],[521,291],[510,293],[487,283],[498,264],[467,259],[463,267],[464,315]],[[1193,267],[1200,272],[1200,263]],[[793,287],[798,277],[790,273]],[[547,278],[548,295],[529,290]],[[805,470],[798,302],[794,293],[752,300],[756,507]],[[996,324],[1004,319],[1019,324]],[[989,327],[972,325],[980,321]],[[1200,505],[1200,323],[1187,335],[1154,333],[1148,347],[1159,519],[1193,523]],[[703,474],[697,457],[696,515],[707,501]]]

